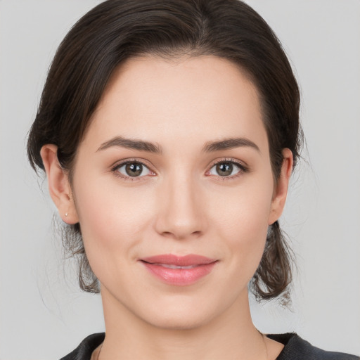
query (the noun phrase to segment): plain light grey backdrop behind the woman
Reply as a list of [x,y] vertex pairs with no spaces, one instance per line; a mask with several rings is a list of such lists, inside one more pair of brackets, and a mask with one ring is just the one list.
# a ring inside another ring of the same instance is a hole
[[[0,0],[0,359],[59,359],[103,330],[51,225],[46,180],[25,155],[60,40],[101,1]],[[266,333],[360,354],[360,1],[249,0],[283,42],[302,89],[307,148],[282,224],[297,254],[293,309],[256,304]]]

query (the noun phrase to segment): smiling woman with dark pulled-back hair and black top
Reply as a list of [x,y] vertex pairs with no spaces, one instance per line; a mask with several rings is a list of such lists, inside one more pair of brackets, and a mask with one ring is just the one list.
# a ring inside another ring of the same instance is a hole
[[281,45],[240,1],[105,1],[65,37],[28,153],[101,290],[106,336],[64,359],[356,359],[264,335],[288,300],[278,218],[299,157]]

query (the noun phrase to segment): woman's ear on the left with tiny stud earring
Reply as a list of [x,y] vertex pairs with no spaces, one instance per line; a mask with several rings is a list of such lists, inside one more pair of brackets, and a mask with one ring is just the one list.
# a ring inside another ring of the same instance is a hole
[[66,224],[79,222],[75,208],[68,174],[58,162],[58,147],[53,144],[44,145],[40,155],[48,178],[49,193]]

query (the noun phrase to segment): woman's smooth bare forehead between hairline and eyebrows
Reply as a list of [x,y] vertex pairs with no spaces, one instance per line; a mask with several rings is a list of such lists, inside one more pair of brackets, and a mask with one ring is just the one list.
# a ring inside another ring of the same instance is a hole
[[115,70],[85,137],[171,144],[237,135],[255,136],[267,146],[260,109],[256,87],[229,60],[131,58]]

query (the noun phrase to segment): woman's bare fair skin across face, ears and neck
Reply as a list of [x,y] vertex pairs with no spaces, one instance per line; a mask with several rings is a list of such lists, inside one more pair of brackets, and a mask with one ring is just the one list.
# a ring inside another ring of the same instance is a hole
[[[99,150],[114,136],[149,141],[162,153]],[[203,151],[229,138],[257,148]],[[41,149],[51,197],[63,221],[79,221],[101,282],[100,359],[276,359],[283,345],[252,324],[248,283],[283,211],[293,157],[283,150],[275,183],[257,89],[236,65],[214,56],[127,60],[79,144],[71,186],[56,150]],[[148,169],[138,177],[112,169],[122,160]],[[229,160],[248,170],[233,165],[220,176],[214,162]],[[170,253],[218,262],[200,281],[175,286],[138,261]]]

